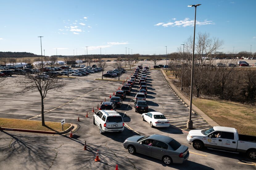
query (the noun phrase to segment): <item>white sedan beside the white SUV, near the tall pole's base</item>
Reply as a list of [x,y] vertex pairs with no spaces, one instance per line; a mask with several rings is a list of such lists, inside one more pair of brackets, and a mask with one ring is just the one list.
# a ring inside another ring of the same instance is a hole
[[143,113],[142,120],[150,124],[150,127],[169,127],[170,122],[160,112]]

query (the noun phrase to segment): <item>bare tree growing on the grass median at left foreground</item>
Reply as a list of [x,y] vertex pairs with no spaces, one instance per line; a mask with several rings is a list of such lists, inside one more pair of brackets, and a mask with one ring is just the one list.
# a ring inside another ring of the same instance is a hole
[[38,68],[39,72],[36,72],[35,74],[27,73],[19,79],[16,79],[16,83],[22,88],[22,93],[27,91],[39,91],[41,96],[42,126],[45,126],[43,99],[50,91],[60,91],[66,83],[56,76],[48,77],[47,75],[44,75],[42,65],[39,65]]

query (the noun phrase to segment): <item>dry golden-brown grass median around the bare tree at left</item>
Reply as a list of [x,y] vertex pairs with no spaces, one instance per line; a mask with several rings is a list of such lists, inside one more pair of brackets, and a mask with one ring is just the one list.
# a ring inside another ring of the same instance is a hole
[[[62,131],[61,123],[59,122],[45,122],[46,126],[42,126],[41,121],[22,120],[22,119],[10,119],[0,118],[0,127],[14,128],[14,129],[29,129],[29,130],[41,130],[54,132],[53,130],[60,132]],[[65,123],[63,129],[68,129],[71,125]],[[53,130],[51,130],[53,129]]]

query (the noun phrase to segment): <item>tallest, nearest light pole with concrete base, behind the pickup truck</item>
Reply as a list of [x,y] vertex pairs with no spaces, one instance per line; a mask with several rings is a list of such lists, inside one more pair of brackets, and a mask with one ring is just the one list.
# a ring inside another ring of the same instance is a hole
[[194,40],[193,40],[193,54],[192,54],[192,69],[191,69],[191,83],[190,83],[190,105],[189,105],[189,119],[187,122],[187,128],[193,128],[193,122],[191,120],[192,114],[192,95],[193,95],[193,72],[194,72],[194,53],[195,53],[195,33],[196,33],[196,7],[200,6],[201,4],[197,5],[189,5],[188,7],[195,7],[195,23],[194,23]]

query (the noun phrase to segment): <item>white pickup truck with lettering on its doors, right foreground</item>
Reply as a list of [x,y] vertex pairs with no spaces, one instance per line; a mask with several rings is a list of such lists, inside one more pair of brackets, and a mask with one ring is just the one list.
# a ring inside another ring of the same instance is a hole
[[187,142],[197,150],[208,147],[246,153],[248,158],[256,160],[256,137],[238,134],[235,128],[214,126],[205,130],[190,130]]

